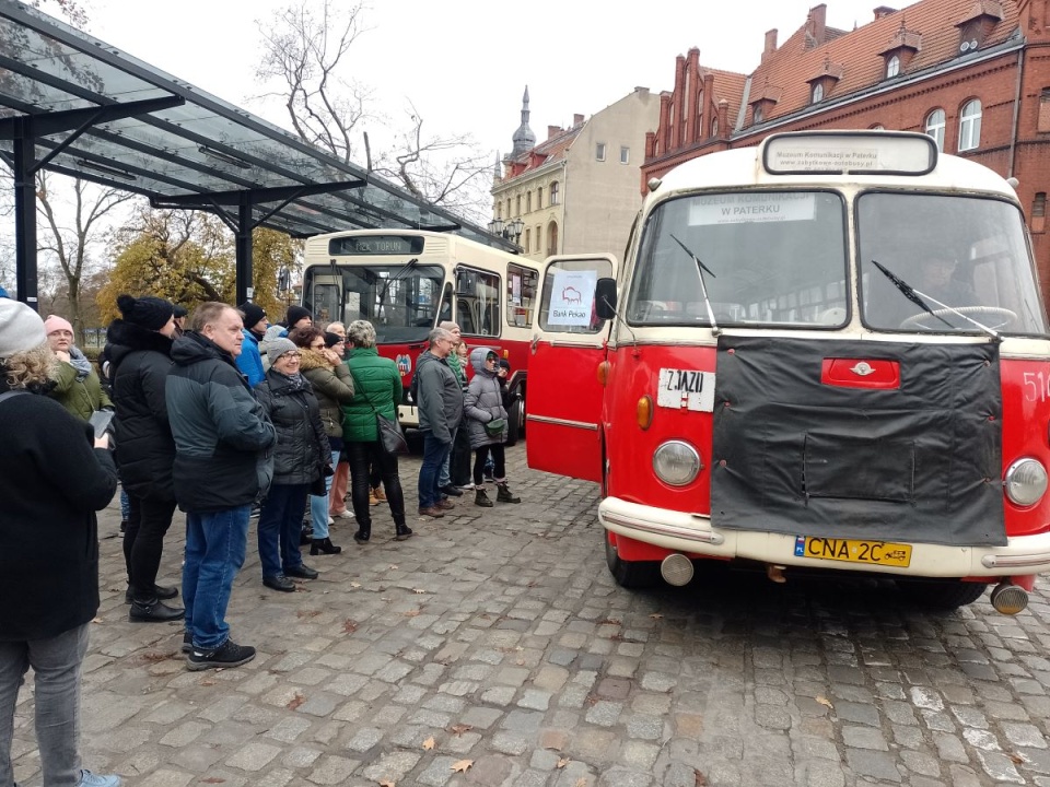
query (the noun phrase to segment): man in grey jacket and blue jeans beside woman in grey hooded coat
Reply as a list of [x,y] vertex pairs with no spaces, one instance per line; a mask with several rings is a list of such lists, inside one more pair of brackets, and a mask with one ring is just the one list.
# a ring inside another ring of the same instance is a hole
[[463,389],[455,373],[448,367],[448,353],[456,338],[444,328],[434,328],[428,337],[430,349],[416,362],[416,386],[419,410],[419,431],[423,435],[423,463],[419,468],[419,513],[441,517],[455,507],[442,494],[438,480],[452,437],[463,419]]

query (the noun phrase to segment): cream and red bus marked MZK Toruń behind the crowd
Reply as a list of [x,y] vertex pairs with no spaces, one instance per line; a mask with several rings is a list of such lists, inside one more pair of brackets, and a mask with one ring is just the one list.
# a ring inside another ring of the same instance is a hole
[[408,389],[427,334],[442,320],[456,321],[468,346],[491,346],[511,364],[509,390],[518,395],[508,413],[513,443],[525,413],[538,279],[528,260],[458,235],[339,232],[306,242],[303,306],[322,325],[364,319],[375,326],[380,354],[401,372],[405,426],[419,423]]

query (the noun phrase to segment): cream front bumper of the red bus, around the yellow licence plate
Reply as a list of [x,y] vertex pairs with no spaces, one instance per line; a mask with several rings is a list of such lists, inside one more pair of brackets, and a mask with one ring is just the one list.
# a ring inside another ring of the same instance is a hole
[[[948,547],[911,543],[907,567],[797,556],[795,543],[805,533],[726,530],[711,526],[704,514],[687,514],[606,497],[598,520],[614,533],[682,552],[720,560],[750,560],[781,566],[898,574],[919,577],[1005,577],[1050,571],[1050,532],[1007,539],[1005,547]],[[877,539],[870,539],[877,541]]]

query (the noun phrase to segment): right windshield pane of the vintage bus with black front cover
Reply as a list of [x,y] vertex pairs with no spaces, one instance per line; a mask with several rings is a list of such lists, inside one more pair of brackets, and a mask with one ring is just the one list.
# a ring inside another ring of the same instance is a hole
[[[1008,202],[980,197],[872,191],[858,199],[862,319],[877,330],[1047,332],[1024,219]],[[915,291],[905,295],[873,265]],[[940,302],[940,304],[934,303]],[[934,314],[930,314],[933,312]]]

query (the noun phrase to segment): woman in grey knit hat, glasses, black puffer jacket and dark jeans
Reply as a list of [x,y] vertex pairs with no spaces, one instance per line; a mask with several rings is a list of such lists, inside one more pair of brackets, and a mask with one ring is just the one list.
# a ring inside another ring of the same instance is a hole
[[320,406],[310,381],[300,373],[302,354],[290,339],[267,348],[270,368],[255,388],[259,404],[277,430],[273,484],[259,514],[259,562],[262,584],[293,592],[289,577],[316,579],[299,551],[306,496],[314,484],[324,489],[331,474],[331,448],[320,423]]

